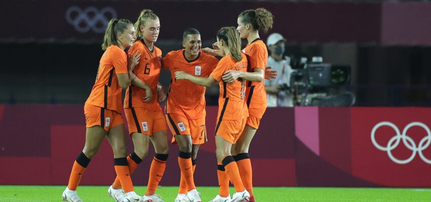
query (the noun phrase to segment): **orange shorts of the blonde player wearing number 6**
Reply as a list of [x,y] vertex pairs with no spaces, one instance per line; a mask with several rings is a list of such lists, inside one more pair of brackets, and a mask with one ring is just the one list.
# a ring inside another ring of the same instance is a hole
[[127,123],[129,125],[129,135],[137,132],[152,136],[154,133],[167,130],[166,121],[161,110],[152,111],[144,108],[126,108]]

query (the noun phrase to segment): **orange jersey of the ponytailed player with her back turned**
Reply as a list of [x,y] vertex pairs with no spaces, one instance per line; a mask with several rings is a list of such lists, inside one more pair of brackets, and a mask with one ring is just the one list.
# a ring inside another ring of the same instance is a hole
[[222,58],[210,75],[220,85],[218,120],[242,120],[248,117],[248,109],[245,104],[245,80],[237,79],[232,83],[227,83],[222,79],[228,70],[247,71],[247,58],[245,54],[241,53],[241,56],[240,62],[236,62],[230,55]]

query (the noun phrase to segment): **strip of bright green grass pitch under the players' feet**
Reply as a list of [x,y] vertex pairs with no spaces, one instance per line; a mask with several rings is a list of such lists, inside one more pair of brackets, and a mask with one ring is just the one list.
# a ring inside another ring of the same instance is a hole
[[[8,202],[60,202],[65,186],[9,186],[0,185],[0,201]],[[107,195],[108,186],[80,186],[78,194],[85,202],[113,202]],[[145,186],[135,186],[139,195]],[[166,202],[172,202],[178,187],[162,186],[157,193]],[[218,194],[218,187],[198,187],[202,201]],[[235,190],[231,189],[231,194]],[[429,188],[323,188],[323,187],[255,187],[256,201],[328,201],[328,202],[410,202],[431,201]]]

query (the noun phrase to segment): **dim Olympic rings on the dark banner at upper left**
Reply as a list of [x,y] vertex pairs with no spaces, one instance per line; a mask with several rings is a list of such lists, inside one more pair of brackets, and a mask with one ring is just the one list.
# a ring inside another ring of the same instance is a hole
[[111,7],[105,7],[100,11],[95,7],[88,7],[82,10],[73,6],[66,10],[66,21],[73,25],[81,33],[93,30],[102,33],[109,21],[117,17],[117,12]]

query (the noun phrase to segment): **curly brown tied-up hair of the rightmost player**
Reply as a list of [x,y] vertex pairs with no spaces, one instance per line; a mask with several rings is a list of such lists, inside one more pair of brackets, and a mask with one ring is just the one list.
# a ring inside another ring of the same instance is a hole
[[238,18],[243,24],[252,25],[254,30],[261,30],[266,33],[272,28],[274,16],[268,10],[259,8],[243,11]]

